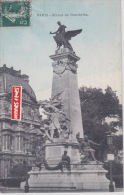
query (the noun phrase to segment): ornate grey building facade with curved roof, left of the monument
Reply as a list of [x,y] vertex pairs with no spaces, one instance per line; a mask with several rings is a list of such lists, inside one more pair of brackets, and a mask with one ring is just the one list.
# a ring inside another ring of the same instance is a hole
[[[12,86],[22,86],[21,121],[11,120]],[[29,85],[29,77],[6,65],[0,67],[0,178],[10,176],[13,164],[26,159],[26,142],[40,138],[39,105]],[[32,164],[33,154],[29,153],[28,163]]]

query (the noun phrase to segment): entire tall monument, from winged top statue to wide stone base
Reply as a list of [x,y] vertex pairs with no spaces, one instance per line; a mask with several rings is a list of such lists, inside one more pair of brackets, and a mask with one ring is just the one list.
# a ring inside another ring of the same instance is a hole
[[[47,136],[44,166],[29,172],[30,191],[108,189],[106,171],[102,163],[96,161],[90,141],[83,135],[77,82],[80,58],[69,43],[82,30],[66,32],[65,25],[60,22],[58,25],[56,32],[50,32],[55,34],[57,43],[55,54],[50,56],[53,60],[51,99],[39,102],[47,116],[43,126]],[[70,159],[69,166],[62,158],[63,153]]]

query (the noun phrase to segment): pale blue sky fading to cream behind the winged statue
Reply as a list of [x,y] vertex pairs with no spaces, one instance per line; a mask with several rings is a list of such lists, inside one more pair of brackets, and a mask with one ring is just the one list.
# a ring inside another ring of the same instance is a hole
[[50,31],[55,32],[60,21],[67,31],[83,29],[70,41],[80,57],[78,86],[104,90],[109,85],[122,101],[120,1],[32,0],[31,6],[31,27],[0,29],[0,66],[21,69],[29,75],[37,99],[48,99],[53,76],[49,56],[56,50]]

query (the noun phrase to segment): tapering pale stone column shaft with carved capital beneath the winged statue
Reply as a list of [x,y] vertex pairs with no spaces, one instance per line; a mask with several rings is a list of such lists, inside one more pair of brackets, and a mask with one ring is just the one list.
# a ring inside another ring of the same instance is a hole
[[69,131],[72,132],[70,141],[76,142],[76,134],[83,137],[83,126],[79,89],[77,81],[77,64],[80,59],[73,51],[62,48],[50,56],[53,62],[52,97],[61,93],[64,111],[70,119]]

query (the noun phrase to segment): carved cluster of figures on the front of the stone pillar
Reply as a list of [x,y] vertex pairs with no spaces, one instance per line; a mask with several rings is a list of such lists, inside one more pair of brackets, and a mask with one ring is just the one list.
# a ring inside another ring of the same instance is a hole
[[55,95],[49,101],[40,101],[41,108],[44,109],[43,113],[47,116],[44,122],[44,130],[50,141],[53,142],[54,138],[69,136],[69,119],[63,111],[64,105],[62,103],[61,93]]

